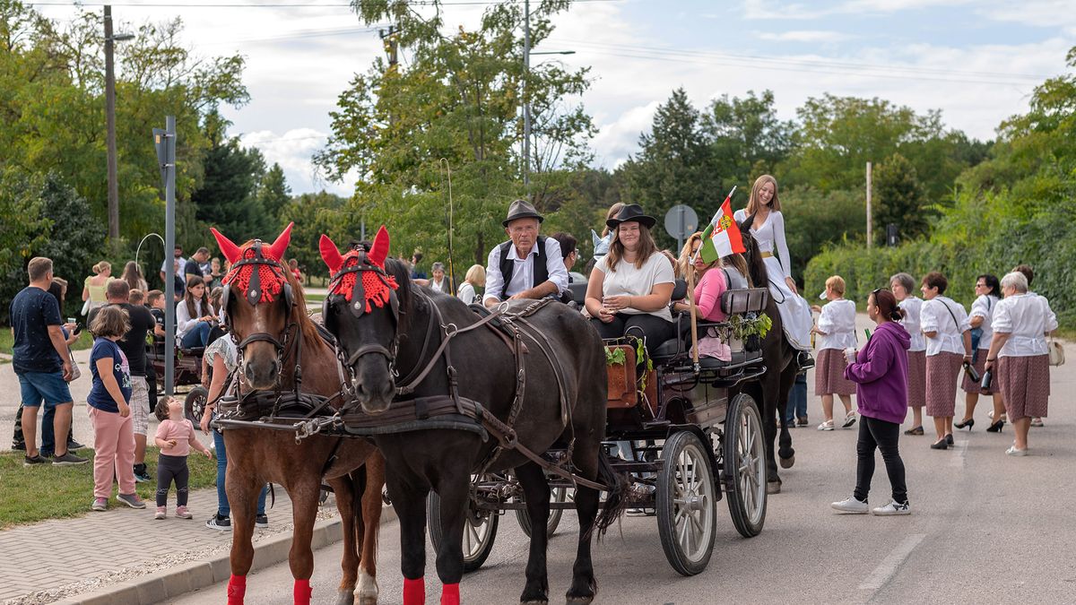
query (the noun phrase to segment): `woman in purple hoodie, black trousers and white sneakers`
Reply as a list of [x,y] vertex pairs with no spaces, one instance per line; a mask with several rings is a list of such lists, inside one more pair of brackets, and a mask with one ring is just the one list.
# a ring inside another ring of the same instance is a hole
[[867,298],[867,314],[878,325],[866,347],[853,358],[848,350],[845,378],[855,383],[860,408],[860,439],[855,445],[858,464],[852,497],[833,503],[841,512],[865,515],[867,492],[874,476],[875,448],[881,450],[886,473],[893,488],[893,500],[870,510],[875,515],[909,515],[908,489],[904,483],[904,461],[897,447],[901,423],[908,413],[908,347],[911,337],[898,321],[904,311],[888,290],[876,290]]

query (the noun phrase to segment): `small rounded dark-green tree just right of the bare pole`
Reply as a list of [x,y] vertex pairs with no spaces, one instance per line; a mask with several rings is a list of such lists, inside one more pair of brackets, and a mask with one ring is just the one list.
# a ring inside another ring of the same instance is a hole
[[928,209],[923,208],[923,189],[916,175],[916,167],[903,155],[895,153],[878,165],[873,175],[874,199],[872,211],[875,243],[886,241],[888,225],[896,225],[901,239],[917,239],[928,234]]

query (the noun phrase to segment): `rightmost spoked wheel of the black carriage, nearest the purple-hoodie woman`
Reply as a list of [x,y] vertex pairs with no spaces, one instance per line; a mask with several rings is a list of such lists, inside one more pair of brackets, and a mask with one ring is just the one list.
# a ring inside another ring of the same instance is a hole
[[722,448],[728,513],[741,536],[754,537],[766,522],[766,449],[762,416],[750,395],[736,395],[730,404]]

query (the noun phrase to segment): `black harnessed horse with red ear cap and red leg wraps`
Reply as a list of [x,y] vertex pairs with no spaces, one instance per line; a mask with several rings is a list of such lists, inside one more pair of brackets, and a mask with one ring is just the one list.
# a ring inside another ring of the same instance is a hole
[[[401,402],[405,396],[399,394],[396,376],[405,377],[400,383],[413,385],[413,391],[402,389],[408,400],[443,400],[457,390],[461,399],[478,402],[497,419],[511,424],[520,445],[530,451],[567,448],[579,476],[595,481],[600,464],[605,484],[612,482],[622,488],[608,464],[599,462],[604,461],[600,448],[607,384],[605,354],[597,332],[578,312],[557,302],[542,306],[526,314],[525,320],[513,319],[515,325],[529,324],[520,325],[527,333],[521,337],[526,347],[526,352],[520,354],[521,372],[507,336],[498,336],[487,325],[476,325],[479,315],[457,298],[412,284],[407,266],[386,259],[387,251],[388,234],[384,227],[369,255],[353,250],[341,256],[336,244],[322,236],[322,257],[334,273],[325,325],[336,335],[348,358],[355,396],[367,418],[393,416],[408,405]],[[538,304],[513,301],[507,308],[511,314]],[[449,342],[444,342],[445,338]],[[540,342],[546,339],[548,342]],[[451,343],[443,353],[442,343]],[[549,344],[552,358],[543,350]],[[424,370],[428,374],[422,375]],[[515,408],[518,382],[525,384],[520,384],[522,406]],[[508,420],[510,410],[518,413],[513,420]],[[574,447],[569,447],[572,440]],[[489,464],[487,456],[498,445],[497,439],[483,439],[475,431],[461,428],[412,425],[406,433],[378,434],[376,441],[385,456],[388,496],[400,521],[405,605],[423,603],[425,597],[426,496],[430,490],[440,496],[441,503],[443,539],[437,552],[437,574],[444,585],[441,603],[459,603],[459,580],[464,573],[462,539],[470,476],[483,468],[515,469],[533,527],[526,583],[520,600],[548,602],[546,524],[550,487],[538,464],[518,449],[500,450]],[[595,524],[600,530],[612,522],[622,502],[620,496],[622,492],[614,490],[598,518],[598,490],[579,484],[576,508],[580,538],[567,592],[569,602],[590,603],[597,593],[591,534]]]

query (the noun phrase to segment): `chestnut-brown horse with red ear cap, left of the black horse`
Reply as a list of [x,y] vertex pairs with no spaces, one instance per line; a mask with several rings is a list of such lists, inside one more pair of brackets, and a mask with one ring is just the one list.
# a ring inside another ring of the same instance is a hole
[[[213,229],[232,265],[224,278],[223,306],[239,342],[240,391],[288,393],[298,366],[303,393],[331,397],[341,388],[336,351],[307,316],[302,286],[280,263],[291,229],[288,225],[272,245],[253,240],[242,247]],[[310,603],[314,571],[310,544],[323,477],[336,494],[343,524],[343,578],[337,603],[377,603],[377,538],[385,482],[384,460],[377,449],[363,439],[320,435],[297,444],[294,433],[256,427],[228,427],[224,441],[232,525],[229,605],[243,602],[254,558],[251,535],[258,493],[269,481],[283,486],[292,498],[295,530],[288,563],[296,578],[294,599],[296,604]]]

